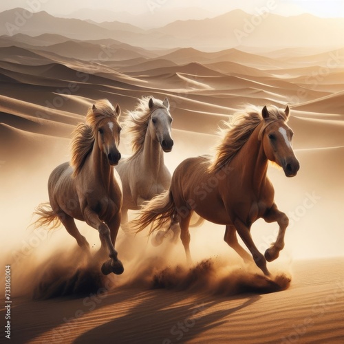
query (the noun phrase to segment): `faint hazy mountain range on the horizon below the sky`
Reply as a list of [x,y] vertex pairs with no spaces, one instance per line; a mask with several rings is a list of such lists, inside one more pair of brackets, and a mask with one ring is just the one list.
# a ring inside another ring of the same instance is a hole
[[218,51],[231,47],[343,47],[344,19],[321,19],[310,14],[254,16],[234,10],[212,19],[175,21],[143,30],[128,23],[96,23],[57,18],[47,12],[30,14],[21,8],[0,13],[0,35],[58,34],[69,39],[114,39],[147,49],[193,47]]

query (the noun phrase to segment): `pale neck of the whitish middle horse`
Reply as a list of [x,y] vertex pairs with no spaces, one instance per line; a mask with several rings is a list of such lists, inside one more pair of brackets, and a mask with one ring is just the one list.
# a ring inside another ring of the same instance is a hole
[[158,140],[151,137],[149,128],[147,128],[146,136],[144,138],[142,148],[142,169],[153,174],[153,177],[158,177],[161,166],[164,165],[164,152]]

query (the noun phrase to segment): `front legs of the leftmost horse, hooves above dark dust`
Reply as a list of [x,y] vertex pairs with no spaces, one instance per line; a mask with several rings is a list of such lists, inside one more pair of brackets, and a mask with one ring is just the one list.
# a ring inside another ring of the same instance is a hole
[[104,241],[107,245],[107,248],[109,249],[109,257],[111,259],[103,264],[103,274],[109,275],[110,272],[114,272],[116,275],[120,275],[124,271],[124,269],[122,263],[117,258],[118,253],[114,248],[114,241],[112,240],[112,237],[114,237],[114,239],[116,240],[116,235],[120,226],[120,212],[118,212],[114,225],[112,225],[111,223],[111,226],[114,226],[114,228],[116,228],[116,230],[112,230],[112,233],[107,224],[101,221],[98,217],[98,214],[95,213],[92,208],[89,208],[88,206],[84,210],[84,218],[85,222],[89,226],[98,230],[101,241]]

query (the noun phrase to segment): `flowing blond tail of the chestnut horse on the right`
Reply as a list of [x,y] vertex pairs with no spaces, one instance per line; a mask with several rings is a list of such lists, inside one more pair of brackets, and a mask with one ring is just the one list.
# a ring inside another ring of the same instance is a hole
[[171,190],[166,190],[160,195],[155,196],[140,211],[137,219],[134,219],[131,224],[136,233],[141,232],[151,224],[149,235],[171,222],[171,217],[175,214],[175,203]]

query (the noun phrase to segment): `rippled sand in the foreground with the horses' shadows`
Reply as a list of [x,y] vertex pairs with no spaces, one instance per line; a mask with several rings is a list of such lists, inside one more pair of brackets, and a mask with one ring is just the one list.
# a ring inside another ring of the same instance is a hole
[[343,263],[297,261],[290,288],[268,294],[243,289],[230,295],[226,286],[215,293],[204,290],[198,276],[183,288],[142,283],[83,297],[20,297],[12,303],[12,342],[342,343]]

